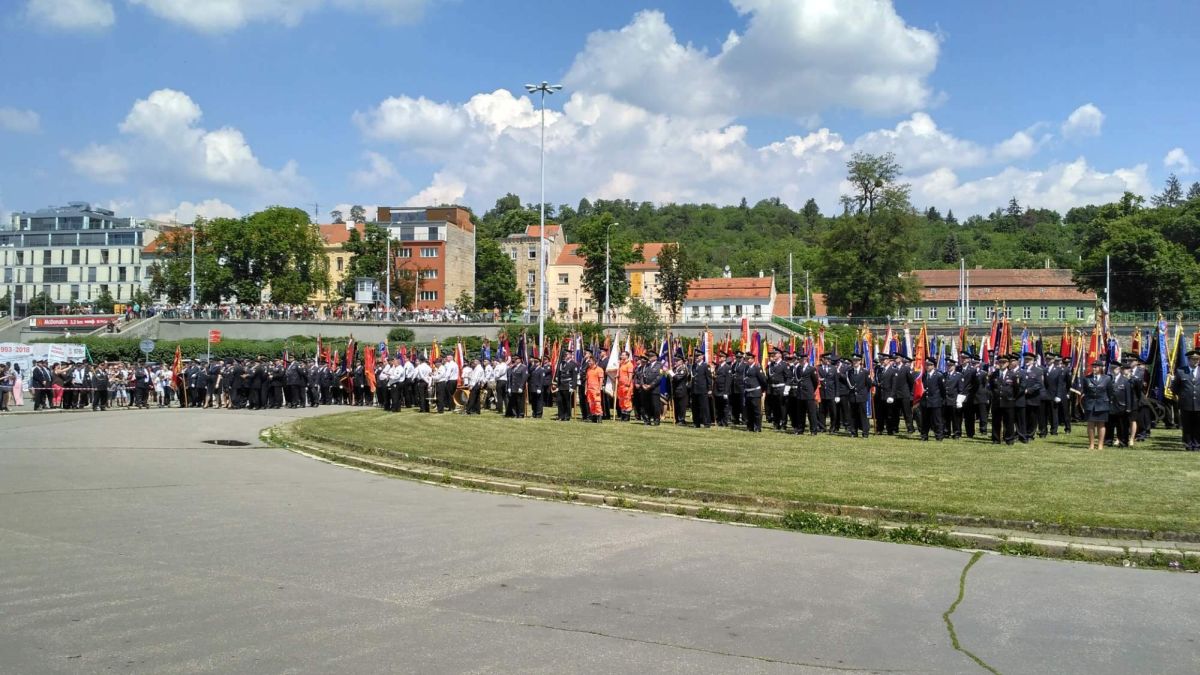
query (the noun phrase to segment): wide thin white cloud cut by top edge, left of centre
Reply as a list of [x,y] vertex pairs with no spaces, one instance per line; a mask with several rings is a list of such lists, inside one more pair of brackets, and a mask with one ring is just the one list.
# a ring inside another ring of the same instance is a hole
[[130,0],[152,14],[200,32],[226,32],[251,23],[295,26],[326,7],[364,12],[391,23],[419,19],[428,0]]

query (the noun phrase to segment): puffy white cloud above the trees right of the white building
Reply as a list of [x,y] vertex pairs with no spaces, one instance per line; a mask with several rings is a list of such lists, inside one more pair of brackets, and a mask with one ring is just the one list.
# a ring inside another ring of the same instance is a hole
[[133,103],[112,143],[74,153],[76,171],[106,183],[136,174],[146,187],[222,187],[263,202],[294,199],[305,187],[294,162],[264,167],[241,131],[198,126],[200,107],[187,94],[160,89]]

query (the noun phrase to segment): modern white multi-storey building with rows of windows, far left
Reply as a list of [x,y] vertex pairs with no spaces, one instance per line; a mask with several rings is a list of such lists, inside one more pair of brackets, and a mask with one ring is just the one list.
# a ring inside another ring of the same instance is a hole
[[142,246],[156,234],[146,221],[86,202],[13,214],[10,229],[0,231],[0,288],[18,306],[37,293],[60,305],[88,304],[106,289],[130,303],[148,281]]

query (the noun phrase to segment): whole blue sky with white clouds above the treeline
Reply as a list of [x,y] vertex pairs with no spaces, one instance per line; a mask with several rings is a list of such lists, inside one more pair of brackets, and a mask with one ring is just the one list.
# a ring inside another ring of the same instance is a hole
[[[1192,1],[10,0],[0,211],[815,197],[894,151],[918,205],[1200,179]],[[1195,160],[1193,160],[1195,157]]]

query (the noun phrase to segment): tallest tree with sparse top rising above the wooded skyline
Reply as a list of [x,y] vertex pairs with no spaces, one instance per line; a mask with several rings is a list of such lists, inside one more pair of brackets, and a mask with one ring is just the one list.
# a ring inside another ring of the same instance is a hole
[[910,186],[898,183],[889,155],[854,154],[846,163],[857,192],[844,196],[857,213],[839,217],[822,240],[816,281],[829,309],[846,316],[886,316],[918,298],[912,270],[916,216]]

